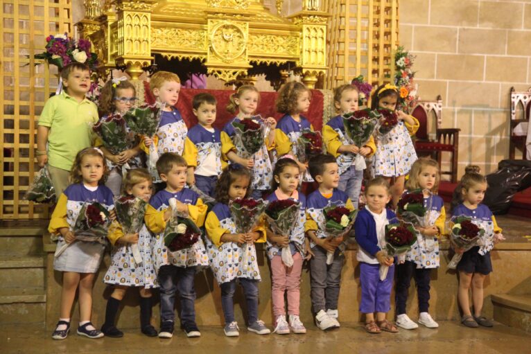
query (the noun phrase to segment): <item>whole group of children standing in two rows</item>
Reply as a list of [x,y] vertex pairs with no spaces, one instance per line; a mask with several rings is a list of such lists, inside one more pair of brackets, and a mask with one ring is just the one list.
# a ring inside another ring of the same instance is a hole
[[[368,333],[381,333],[382,330],[395,333],[397,326],[406,329],[418,326],[406,315],[408,288],[413,277],[419,294],[419,324],[428,328],[438,326],[428,312],[430,272],[439,267],[438,238],[445,234],[446,214],[442,199],[436,195],[438,165],[432,159],[417,159],[412,145],[410,136],[419,126],[415,118],[397,112],[399,124],[388,134],[371,137],[364,146],[356,146],[345,134],[341,115],[358,109],[358,90],[351,85],[342,85],[334,95],[338,116],[332,118],[322,131],[327,154],[319,154],[303,163],[296,157],[297,140],[304,130],[313,130],[302,116],[309,107],[311,92],[299,82],[289,82],[281,87],[277,98],[277,110],[285,115],[278,123],[274,118],[260,122],[270,127],[270,134],[265,136],[265,143],[258,152],[252,157],[244,157],[239,145],[233,141],[235,132],[231,123],[253,118],[259,103],[259,91],[253,86],[242,86],[232,95],[227,110],[235,117],[222,131],[213,126],[216,98],[209,94],[196,95],[193,114],[198,125],[188,129],[175,108],[180,80],[173,73],[159,71],[150,79],[153,95],[165,104],[157,133],[152,137],[130,136],[128,150],[112,154],[103,147],[104,142],[96,142],[99,148],[92,147],[87,122],[94,123],[98,117],[94,115],[96,105],[85,98],[89,88],[87,73],[88,69],[78,63],[63,69],[65,91],[46,103],[37,130],[37,159],[41,166],[48,165],[59,196],[49,231],[58,235],[58,249],[69,244],[54,261],[54,269],[63,272],[61,313],[54,339],[64,339],[69,333],[71,308],[78,288],[80,324],[77,333],[89,338],[123,336],[115,321],[120,301],[130,287],[139,288],[142,333],[162,338],[173,336],[175,297],[178,296],[181,327],[188,337],[198,337],[194,277],[202,267],[210,267],[220,286],[225,335],[234,337],[239,334],[233,303],[236,283],[241,285],[245,294],[247,330],[259,335],[268,334],[270,330],[258,314],[261,274],[254,247],[256,242],[265,243],[270,259],[275,333],[306,333],[299,318],[299,283],[305,259],[310,260],[315,324],[322,330],[340,327],[338,297],[345,263],[342,246],[347,240],[327,236],[322,228],[322,210],[330,204],[358,209],[365,160],[369,158],[372,159],[372,175],[376,177],[365,181],[365,207],[360,209],[354,223],[360,263],[360,312],[365,314],[365,329]],[[136,100],[130,82],[110,80],[101,93],[100,116],[123,113]],[[397,87],[382,85],[374,92],[372,108],[394,110],[397,100]],[[71,133],[66,134],[66,129]],[[87,134],[86,139],[80,138],[82,132]],[[154,149],[158,155],[155,180],[154,171],[143,168],[143,161],[150,159],[149,154],[153,154]],[[143,152],[148,156],[143,156]],[[67,168],[69,163],[71,168]],[[124,168],[126,164],[127,168]],[[404,192],[406,175],[409,175],[408,190],[421,188],[424,191],[424,203],[430,209],[430,226],[418,229],[421,235],[417,237],[417,243],[396,264],[397,259],[383,250],[385,225],[397,221],[397,216],[387,206],[390,202],[397,204]],[[391,179],[394,179],[392,186]],[[314,182],[317,189],[306,197],[299,188],[302,182]],[[155,195],[152,195],[152,184],[158,190]],[[191,186],[214,197],[216,204],[209,210],[202,195],[196,193],[197,189],[189,188]],[[460,190],[462,201],[453,215],[469,215],[487,232],[500,233],[494,216],[480,204],[486,187],[485,177],[477,172],[467,173]],[[113,196],[120,194],[149,202],[145,224],[139,233],[124,233],[116,221]],[[229,204],[244,197],[300,202],[291,235],[273,233],[263,219],[251,232],[238,233]],[[101,330],[94,327],[90,318],[94,274],[105,247],[97,242],[76,240],[72,232],[85,202],[101,203],[114,220],[108,236],[113,246],[112,263],[103,279],[114,290],[107,301]],[[186,215],[198,227],[204,228],[204,237],[192,247],[169,251],[164,245],[164,229],[175,213]],[[139,264],[131,245],[137,245],[140,251],[142,262]],[[290,267],[281,260],[282,247],[289,247],[293,256]],[[455,248],[457,252],[463,251]],[[458,265],[458,299],[464,312],[462,323],[466,326],[492,325],[481,316],[482,282],[492,270],[491,248],[492,245],[485,244],[464,252]],[[331,264],[327,263],[329,252],[334,254]],[[395,264],[396,324],[386,318],[390,311]],[[378,272],[381,265],[389,267],[383,281]],[[469,310],[470,287],[473,316]],[[159,288],[160,294],[158,332],[150,323],[155,288]]]

